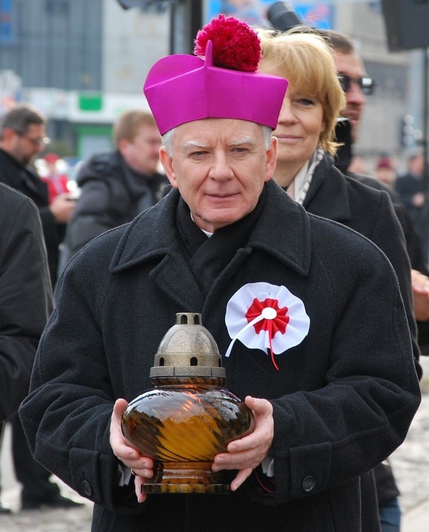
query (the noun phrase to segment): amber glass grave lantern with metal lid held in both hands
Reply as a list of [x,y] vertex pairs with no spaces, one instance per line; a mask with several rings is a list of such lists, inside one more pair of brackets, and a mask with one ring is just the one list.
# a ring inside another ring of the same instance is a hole
[[122,416],[122,433],[155,461],[143,493],[226,493],[218,453],[250,433],[246,404],[223,388],[225,369],[200,314],[176,314],[150,370],[153,388],[136,397]]

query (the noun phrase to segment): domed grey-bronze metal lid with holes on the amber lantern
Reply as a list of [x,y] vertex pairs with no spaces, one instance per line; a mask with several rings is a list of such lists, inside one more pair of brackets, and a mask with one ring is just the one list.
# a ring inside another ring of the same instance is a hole
[[149,377],[225,378],[217,344],[201,325],[201,314],[176,313],[176,325],[159,343]]

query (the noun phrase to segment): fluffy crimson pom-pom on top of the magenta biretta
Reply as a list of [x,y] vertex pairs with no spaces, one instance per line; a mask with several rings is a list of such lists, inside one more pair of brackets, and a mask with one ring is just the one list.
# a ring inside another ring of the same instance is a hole
[[213,43],[213,64],[221,68],[256,72],[262,57],[256,32],[233,16],[219,15],[198,31],[194,54],[206,54],[207,41]]

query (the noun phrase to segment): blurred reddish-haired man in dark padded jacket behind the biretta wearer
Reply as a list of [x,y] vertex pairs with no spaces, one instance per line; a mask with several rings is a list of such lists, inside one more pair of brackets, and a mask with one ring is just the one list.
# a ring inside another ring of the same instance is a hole
[[60,269],[92,238],[154,205],[168,184],[158,172],[161,135],[152,113],[122,114],[113,138],[114,151],[92,156],[78,172],[81,192],[66,229]]

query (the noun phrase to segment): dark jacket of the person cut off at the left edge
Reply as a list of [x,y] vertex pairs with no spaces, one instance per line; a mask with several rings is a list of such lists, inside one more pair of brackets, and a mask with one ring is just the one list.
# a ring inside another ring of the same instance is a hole
[[[40,335],[52,311],[36,205],[0,183],[0,446],[5,420],[28,394]],[[10,510],[0,502],[0,514]]]

